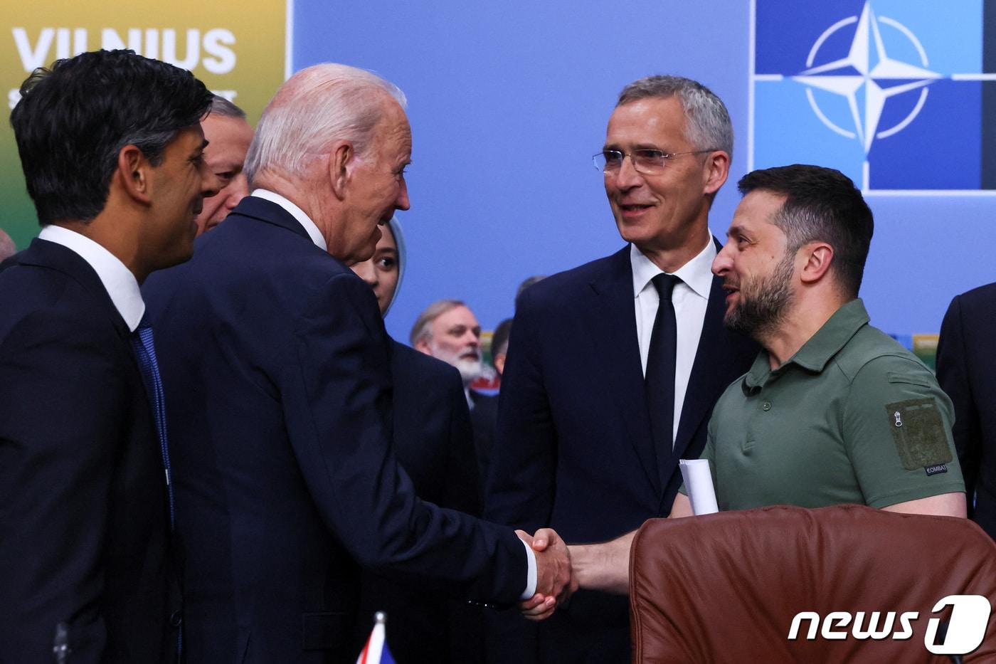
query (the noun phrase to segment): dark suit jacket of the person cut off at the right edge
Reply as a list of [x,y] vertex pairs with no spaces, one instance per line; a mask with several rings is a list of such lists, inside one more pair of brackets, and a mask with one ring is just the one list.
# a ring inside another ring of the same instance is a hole
[[951,301],[937,342],[937,381],[954,404],[968,515],[996,539],[996,283]]

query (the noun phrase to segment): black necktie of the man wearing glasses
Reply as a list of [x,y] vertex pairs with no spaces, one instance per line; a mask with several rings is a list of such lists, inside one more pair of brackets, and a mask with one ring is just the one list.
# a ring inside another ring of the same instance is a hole
[[671,291],[681,279],[673,274],[661,273],[653,277],[652,281],[660,296],[660,304],[657,305],[657,315],[653,319],[643,387],[650,415],[650,435],[657,456],[660,489],[663,490],[671,475],[674,447],[674,355],[677,352],[677,321]]

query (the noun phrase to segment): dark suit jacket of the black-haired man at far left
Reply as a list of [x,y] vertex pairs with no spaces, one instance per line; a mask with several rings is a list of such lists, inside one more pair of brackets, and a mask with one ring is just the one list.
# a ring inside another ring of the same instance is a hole
[[127,326],[60,244],[0,269],[0,662],[55,661],[58,623],[72,664],[173,661],[165,480]]

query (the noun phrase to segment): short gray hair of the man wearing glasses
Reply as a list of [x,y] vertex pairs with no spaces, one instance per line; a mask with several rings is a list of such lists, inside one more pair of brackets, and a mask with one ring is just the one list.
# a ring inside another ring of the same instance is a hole
[[616,107],[641,99],[677,97],[688,120],[687,139],[698,150],[722,150],[733,158],[733,124],[723,101],[697,81],[680,76],[648,76],[620,93]]

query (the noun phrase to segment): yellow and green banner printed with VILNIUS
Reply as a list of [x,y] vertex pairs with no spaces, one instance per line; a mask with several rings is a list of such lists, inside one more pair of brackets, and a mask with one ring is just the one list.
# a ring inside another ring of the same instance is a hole
[[289,0],[92,4],[72,0],[7,3],[0,18],[0,228],[18,249],[38,234],[24,186],[10,110],[37,67],[98,49],[132,49],[193,72],[240,106],[255,126],[287,71]]

